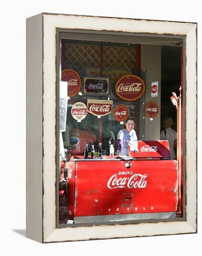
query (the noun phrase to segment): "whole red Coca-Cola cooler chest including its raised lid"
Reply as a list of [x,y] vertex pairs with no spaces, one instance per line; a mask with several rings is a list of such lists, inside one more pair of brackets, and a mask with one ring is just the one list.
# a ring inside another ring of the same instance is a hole
[[68,164],[68,217],[75,223],[175,217],[177,161],[168,141],[137,141],[120,159],[82,159]]

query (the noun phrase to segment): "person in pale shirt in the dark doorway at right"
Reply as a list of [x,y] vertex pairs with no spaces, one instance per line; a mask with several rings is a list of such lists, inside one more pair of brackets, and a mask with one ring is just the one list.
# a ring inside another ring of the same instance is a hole
[[163,129],[160,135],[161,140],[168,140],[169,148],[170,148],[170,159],[175,160],[175,145],[177,141],[177,133],[174,129],[172,129],[173,120],[171,117],[165,117],[163,119]]

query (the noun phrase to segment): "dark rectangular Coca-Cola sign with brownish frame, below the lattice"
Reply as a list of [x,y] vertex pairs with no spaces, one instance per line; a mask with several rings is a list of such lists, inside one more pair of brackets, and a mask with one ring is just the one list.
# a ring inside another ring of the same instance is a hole
[[104,76],[84,76],[83,94],[107,96],[110,92],[109,77]]

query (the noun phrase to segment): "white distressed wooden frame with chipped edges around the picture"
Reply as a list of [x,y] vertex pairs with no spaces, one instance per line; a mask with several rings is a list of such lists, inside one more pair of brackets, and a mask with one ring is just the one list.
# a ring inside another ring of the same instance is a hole
[[[56,228],[56,28],[186,36],[186,220]],[[197,24],[41,13],[27,19],[27,237],[40,243],[197,232]]]

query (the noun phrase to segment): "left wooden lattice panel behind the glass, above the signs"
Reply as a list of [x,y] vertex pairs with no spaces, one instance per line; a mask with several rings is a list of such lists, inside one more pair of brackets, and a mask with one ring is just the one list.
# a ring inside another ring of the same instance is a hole
[[100,67],[100,47],[66,44],[65,64],[82,68]]

